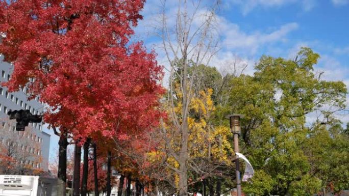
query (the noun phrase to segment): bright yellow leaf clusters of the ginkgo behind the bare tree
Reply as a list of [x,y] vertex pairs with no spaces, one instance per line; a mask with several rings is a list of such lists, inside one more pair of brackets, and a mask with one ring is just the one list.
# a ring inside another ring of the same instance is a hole
[[[176,115],[181,123],[183,119],[182,95],[179,87],[176,87],[176,100],[169,103],[168,109],[171,115]],[[232,133],[228,127],[214,126],[212,122],[212,112],[215,110],[212,100],[213,90],[202,90],[192,92],[193,96],[189,102],[188,108],[188,156],[189,159],[202,159],[210,162],[232,164],[232,155],[234,155],[231,145]],[[173,105],[172,105],[173,104]],[[173,107],[174,106],[174,107]],[[172,153],[180,152],[181,144],[181,127],[176,124],[168,124],[167,133],[169,134],[168,146]],[[167,147],[166,147],[167,148]],[[167,154],[166,164],[172,169],[179,168],[179,163],[171,153]],[[170,171],[168,171],[170,173]],[[173,180],[178,186],[179,178],[177,174],[173,174]]]

